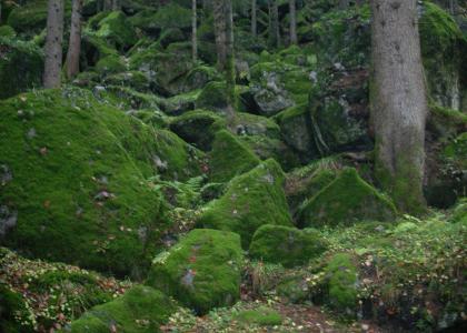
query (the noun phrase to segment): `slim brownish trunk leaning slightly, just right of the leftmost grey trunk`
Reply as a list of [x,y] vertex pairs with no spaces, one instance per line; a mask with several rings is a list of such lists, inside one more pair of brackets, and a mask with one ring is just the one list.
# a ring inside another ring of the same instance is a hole
[[67,78],[79,73],[79,56],[81,53],[81,11],[83,0],[73,0],[71,10],[70,42],[67,53]]

